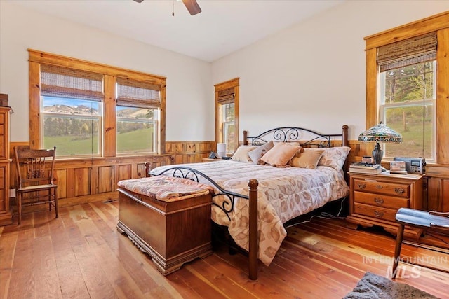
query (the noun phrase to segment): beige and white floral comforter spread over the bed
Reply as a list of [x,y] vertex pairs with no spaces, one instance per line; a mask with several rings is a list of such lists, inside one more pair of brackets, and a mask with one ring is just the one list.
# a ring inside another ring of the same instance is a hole
[[[283,223],[349,194],[343,172],[326,166],[316,169],[276,168],[251,162],[222,160],[161,166],[153,169],[151,173],[157,175],[170,167],[194,168],[209,176],[223,189],[242,195],[248,195],[249,179],[257,179],[258,258],[265,265],[272,262],[287,235]],[[172,173],[170,171],[165,174],[171,176]],[[209,181],[200,176],[199,182],[210,185]],[[220,197],[214,197],[214,201],[220,201]],[[248,250],[248,200],[236,199],[234,210],[229,215],[230,220],[221,209],[214,205],[212,207],[212,220],[217,224],[227,225],[229,235],[236,244]]]

